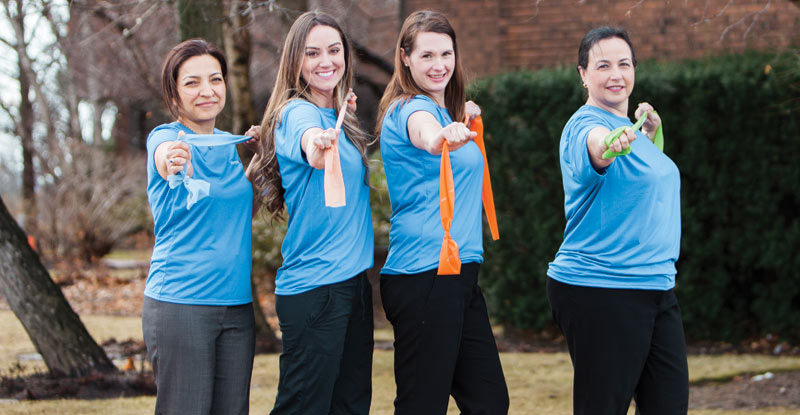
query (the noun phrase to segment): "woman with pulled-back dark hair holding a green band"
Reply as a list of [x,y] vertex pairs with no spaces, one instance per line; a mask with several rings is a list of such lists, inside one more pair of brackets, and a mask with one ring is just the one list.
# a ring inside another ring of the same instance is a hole
[[627,33],[586,34],[578,73],[586,105],[567,122],[560,159],[567,226],[547,271],[553,317],[574,367],[575,414],[685,414],[689,385],[673,292],[680,250],[680,174],[652,142],[661,119],[650,104],[643,132],[627,128],[603,159],[605,136],[632,126],[628,98],[636,55]]

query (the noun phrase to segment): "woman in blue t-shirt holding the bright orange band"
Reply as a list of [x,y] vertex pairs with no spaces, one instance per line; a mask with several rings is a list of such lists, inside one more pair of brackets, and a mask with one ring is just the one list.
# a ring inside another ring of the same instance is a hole
[[[456,35],[441,13],[406,18],[378,132],[392,205],[381,298],[394,328],[395,414],[505,414],[508,389],[478,287],[483,262],[483,155],[467,111]],[[447,141],[455,183],[451,235],[461,273],[437,275],[444,230],[439,166]]]

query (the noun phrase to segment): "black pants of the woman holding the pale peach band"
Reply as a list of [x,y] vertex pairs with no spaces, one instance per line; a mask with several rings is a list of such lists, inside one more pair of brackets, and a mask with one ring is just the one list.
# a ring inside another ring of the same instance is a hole
[[367,415],[372,400],[372,287],[366,272],[276,295],[283,334],[272,414]]

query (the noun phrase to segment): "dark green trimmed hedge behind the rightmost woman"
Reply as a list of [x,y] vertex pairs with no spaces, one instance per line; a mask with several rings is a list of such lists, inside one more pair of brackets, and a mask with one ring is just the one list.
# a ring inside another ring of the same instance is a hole
[[[637,68],[681,170],[677,293],[692,339],[800,340],[800,61],[748,53]],[[564,230],[561,130],[585,98],[572,68],[475,82],[501,239],[484,289],[499,322],[551,323],[546,270]],[[487,235],[488,236],[488,235]]]

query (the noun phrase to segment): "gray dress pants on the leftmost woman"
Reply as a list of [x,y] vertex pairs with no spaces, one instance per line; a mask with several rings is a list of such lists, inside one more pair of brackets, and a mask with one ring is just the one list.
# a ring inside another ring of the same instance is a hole
[[145,297],[142,331],[158,388],[156,414],[249,413],[252,304],[199,306]]

